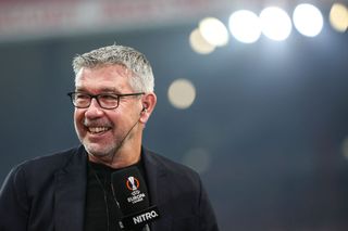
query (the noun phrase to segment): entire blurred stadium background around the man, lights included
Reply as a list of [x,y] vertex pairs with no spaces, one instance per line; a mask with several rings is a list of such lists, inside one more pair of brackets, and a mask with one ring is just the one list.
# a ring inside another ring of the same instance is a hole
[[0,0],[0,183],[78,145],[72,59],[116,42],[152,63],[145,145],[200,172],[221,230],[348,230],[347,5]]

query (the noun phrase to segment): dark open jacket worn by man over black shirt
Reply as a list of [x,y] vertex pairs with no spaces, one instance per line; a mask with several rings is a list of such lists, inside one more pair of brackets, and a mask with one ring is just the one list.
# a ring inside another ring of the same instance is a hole
[[[141,158],[161,214],[151,231],[219,230],[198,174],[147,150]],[[0,231],[83,231],[86,183],[83,146],[16,166],[0,191]]]

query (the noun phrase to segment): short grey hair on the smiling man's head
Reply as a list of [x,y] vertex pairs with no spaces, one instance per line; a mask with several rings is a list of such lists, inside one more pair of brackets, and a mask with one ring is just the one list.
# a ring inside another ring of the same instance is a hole
[[73,60],[75,76],[83,67],[94,68],[110,64],[120,64],[132,70],[129,85],[135,91],[153,91],[154,79],[151,64],[142,53],[134,48],[113,44],[77,54]]

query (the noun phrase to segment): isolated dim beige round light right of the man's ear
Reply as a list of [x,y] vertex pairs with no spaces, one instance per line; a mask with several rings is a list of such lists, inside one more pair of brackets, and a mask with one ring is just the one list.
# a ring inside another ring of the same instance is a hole
[[194,103],[196,89],[189,80],[177,79],[170,86],[167,97],[174,107],[185,110]]

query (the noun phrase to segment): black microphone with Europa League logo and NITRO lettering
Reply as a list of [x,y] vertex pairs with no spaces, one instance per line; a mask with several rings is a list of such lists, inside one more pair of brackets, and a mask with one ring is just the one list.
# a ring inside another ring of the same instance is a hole
[[150,206],[146,181],[136,166],[111,175],[113,195],[123,214],[123,230],[150,230],[148,223],[160,218],[157,206]]

